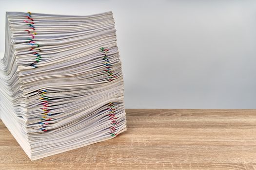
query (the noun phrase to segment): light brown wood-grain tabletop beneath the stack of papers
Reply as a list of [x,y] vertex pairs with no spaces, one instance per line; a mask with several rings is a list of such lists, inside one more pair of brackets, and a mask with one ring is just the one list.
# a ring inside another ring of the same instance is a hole
[[0,122],[0,170],[256,170],[256,110],[126,112],[120,136],[36,161]]

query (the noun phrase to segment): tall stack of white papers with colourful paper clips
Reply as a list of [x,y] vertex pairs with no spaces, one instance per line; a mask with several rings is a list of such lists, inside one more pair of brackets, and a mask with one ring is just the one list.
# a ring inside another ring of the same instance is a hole
[[112,12],[6,13],[0,118],[31,160],[126,130],[114,24]]

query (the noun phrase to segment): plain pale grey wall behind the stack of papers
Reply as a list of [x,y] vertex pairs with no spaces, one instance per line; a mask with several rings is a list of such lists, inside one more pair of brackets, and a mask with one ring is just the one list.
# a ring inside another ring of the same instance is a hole
[[1,0],[5,11],[113,11],[126,108],[256,108],[256,0]]

